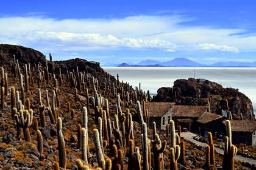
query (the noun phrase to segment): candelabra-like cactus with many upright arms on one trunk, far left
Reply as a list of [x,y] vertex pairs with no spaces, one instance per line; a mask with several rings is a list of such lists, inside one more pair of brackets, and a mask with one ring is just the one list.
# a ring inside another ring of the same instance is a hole
[[31,142],[29,127],[33,121],[33,110],[29,109],[29,111],[25,110],[25,115],[23,110],[20,110],[19,115],[15,115],[16,124],[18,127],[23,128],[23,134],[26,141]]

